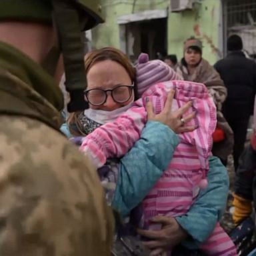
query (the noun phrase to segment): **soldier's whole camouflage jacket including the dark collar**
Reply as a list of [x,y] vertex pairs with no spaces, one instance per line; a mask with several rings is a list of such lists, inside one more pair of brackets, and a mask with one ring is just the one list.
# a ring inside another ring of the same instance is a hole
[[113,216],[97,172],[58,131],[59,96],[1,46],[0,255],[111,255]]

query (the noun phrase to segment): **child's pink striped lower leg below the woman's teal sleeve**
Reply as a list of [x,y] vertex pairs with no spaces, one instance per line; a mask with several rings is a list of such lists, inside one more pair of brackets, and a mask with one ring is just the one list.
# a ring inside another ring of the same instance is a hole
[[216,224],[213,233],[211,233],[210,237],[208,237],[207,241],[201,245],[200,249],[205,252],[207,255],[212,256],[235,256],[237,255],[237,249],[231,240],[231,238],[227,235],[227,233],[223,230],[223,228]]

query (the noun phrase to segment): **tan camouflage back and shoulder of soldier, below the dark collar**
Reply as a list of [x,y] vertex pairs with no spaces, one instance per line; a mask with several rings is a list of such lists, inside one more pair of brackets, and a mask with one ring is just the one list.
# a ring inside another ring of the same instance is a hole
[[75,145],[45,123],[11,115],[0,115],[0,141],[0,254],[109,255],[111,211]]

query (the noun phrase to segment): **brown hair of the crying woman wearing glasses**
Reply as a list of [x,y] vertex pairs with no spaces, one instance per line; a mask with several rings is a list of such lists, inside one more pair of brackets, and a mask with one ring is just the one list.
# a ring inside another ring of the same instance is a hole
[[[87,73],[95,63],[99,63],[100,61],[111,60],[119,63],[128,73],[131,81],[134,83],[134,95],[135,100],[138,99],[138,91],[137,91],[137,81],[136,81],[136,69],[133,67],[131,61],[119,49],[114,47],[104,47],[101,49],[95,49],[90,51],[85,55],[85,72]],[[67,118],[67,125],[69,127],[69,131],[73,135],[84,135],[83,129],[79,125],[78,116],[81,114],[80,112],[71,113]]]

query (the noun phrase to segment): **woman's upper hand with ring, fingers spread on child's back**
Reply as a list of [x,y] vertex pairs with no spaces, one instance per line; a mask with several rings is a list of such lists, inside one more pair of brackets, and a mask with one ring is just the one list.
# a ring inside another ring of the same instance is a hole
[[[169,126],[175,133],[185,133],[187,131],[193,131],[197,129],[195,125],[185,126],[186,123],[191,121],[195,117],[195,112],[182,117],[184,113],[192,106],[192,101],[189,101],[183,107],[177,109],[176,111],[171,110],[171,105],[173,103],[174,90],[168,93],[167,100],[165,101],[165,107],[161,113],[155,115],[153,111],[153,105],[150,101],[147,101],[147,119],[150,121],[159,121],[167,126]],[[148,98],[147,98],[148,99]],[[146,99],[146,100],[147,100]]]

